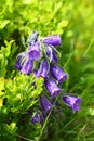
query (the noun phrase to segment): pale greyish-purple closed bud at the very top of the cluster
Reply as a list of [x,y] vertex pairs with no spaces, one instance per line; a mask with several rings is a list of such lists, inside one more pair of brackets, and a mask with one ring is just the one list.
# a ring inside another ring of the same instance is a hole
[[39,33],[38,33],[38,31],[33,31],[33,33],[29,36],[29,38],[27,39],[27,43],[28,43],[29,46],[33,46],[33,44],[36,43],[37,39],[38,39],[38,36],[39,36]]

